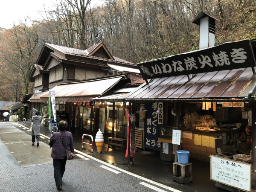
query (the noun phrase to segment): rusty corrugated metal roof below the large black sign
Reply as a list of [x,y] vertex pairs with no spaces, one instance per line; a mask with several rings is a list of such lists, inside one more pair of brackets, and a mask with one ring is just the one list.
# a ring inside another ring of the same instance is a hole
[[199,73],[187,76],[152,79],[123,99],[224,99],[248,96],[256,82],[251,68]]

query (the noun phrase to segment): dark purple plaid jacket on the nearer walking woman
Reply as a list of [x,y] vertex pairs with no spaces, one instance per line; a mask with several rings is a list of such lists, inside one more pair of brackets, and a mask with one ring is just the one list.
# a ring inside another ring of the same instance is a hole
[[50,138],[49,145],[52,147],[52,159],[63,159],[66,156],[66,149],[62,143],[61,137],[68,151],[74,152],[74,143],[72,134],[69,131],[54,132]]

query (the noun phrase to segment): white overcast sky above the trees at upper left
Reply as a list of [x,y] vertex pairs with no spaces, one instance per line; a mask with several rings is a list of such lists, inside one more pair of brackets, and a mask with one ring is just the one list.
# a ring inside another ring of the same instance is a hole
[[[99,0],[93,0],[99,5]],[[13,22],[19,23],[27,16],[32,19],[39,19],[38,11],[51,7],[56,0],[1,0],[0,1],[0,26],[9,29]]]

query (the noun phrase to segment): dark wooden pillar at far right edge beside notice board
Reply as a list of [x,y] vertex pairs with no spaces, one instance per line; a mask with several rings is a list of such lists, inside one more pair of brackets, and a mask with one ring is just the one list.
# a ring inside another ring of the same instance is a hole
[[251,189],[256,186],[256,102],[252,102],[252,164],[251,164]]

